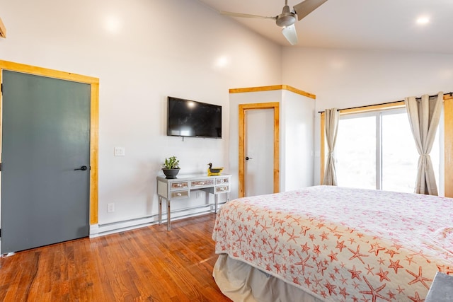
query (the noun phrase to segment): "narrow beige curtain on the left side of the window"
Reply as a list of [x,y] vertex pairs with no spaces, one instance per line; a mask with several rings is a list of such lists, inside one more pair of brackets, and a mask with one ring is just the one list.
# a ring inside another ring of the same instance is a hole
[[338,132],[338,120],[340,112],[336,108],[326,109],[326,141],[328,148],[326,170],[324,171],[323,185],[337,185],[337,174],[335,171],[335,144]]

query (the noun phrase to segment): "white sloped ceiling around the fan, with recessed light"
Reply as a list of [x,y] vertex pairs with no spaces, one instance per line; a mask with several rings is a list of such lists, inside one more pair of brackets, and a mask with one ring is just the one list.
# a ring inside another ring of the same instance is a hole
[[[199,0],[216,11],[277,16],[285,0]],[[300,0],[288,0],[290,8]],[[453,54],[453,0],[328,0],[296,22],[304,47],[403,50]],[[425,25],[417,18],[427,17]],[[289,46],[275,21],[232,18],[251,30]],[[294,47],[294,46],[293,46]]]

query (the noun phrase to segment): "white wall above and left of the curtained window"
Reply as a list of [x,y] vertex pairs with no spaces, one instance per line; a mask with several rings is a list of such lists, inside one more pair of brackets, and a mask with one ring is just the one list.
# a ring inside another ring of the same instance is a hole
[[[284,47],[282,82],[316,94],[316,111],[453,91],[453,54]],[[319,153],[319,115],[315,152]],[[319,184],[319,154],[314,181]]]

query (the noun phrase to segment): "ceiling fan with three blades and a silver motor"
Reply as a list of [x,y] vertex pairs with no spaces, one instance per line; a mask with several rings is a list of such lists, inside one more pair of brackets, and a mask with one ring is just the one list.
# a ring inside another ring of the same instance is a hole
[[222,15],[231,16],[231,17],[241,17],[241,18],[265,18],[273,19],[278,26],[282,29],[283,35],[286,37],[288,42],[291,45],[297,44],[297,33],[294,23],[296,23],[296,18],[298,21],[301,21],[302,18],[305,18],[309,13],[314,11],[316,8],[321,6],[327,0],[305,0],[299,4],[294,5],[294,11],[290,11],[288,6],[288,0],[285,0],[285,6],[283,6],[282,13],[275,17],[265,17],[258,15],[249,15],[248,13],[231,13],[229,11],[220,11]]

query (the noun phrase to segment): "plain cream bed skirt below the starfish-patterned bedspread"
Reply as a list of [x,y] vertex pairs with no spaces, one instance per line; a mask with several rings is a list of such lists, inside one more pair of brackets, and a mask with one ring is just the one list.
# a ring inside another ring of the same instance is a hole
[[234,302],[324,301],[226,254],[219,255],[212,276],[220,291]]

